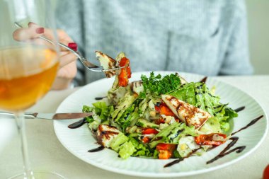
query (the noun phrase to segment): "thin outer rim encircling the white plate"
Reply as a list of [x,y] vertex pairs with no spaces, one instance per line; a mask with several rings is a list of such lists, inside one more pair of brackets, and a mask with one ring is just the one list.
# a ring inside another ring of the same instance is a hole
[[[145,73],[150,73],[151,71],[136,71],[134,72],[133,74],[145,74]],[[201,76],[202,78],[205,77],[204,75],[201,75],[201,74],[193,74],[193,73],[188,73],[188,72],[183,72],[183,71],[154,71],[154,73],[179,73],[179,74],[188,74],[188,75],[195,75],[195,76]],[[243,158],[246,158],[246,156],[249,156],[250,154],[252,154],[254,151],[256,151],[256,149],[258,149],[259,146],[261,146],[261,144],[264,142],[265,140],[265,137],[267,136],[268,134],[268,115],[266,114],[265,112],[265,109],[263,108],[263,105],[261,105],[260,103],[258,103],[258,101],[256,100],[256,98],[254,98],[253,96],[249,95],[248,93],[246,93],[245,91],[241,90],[240,88],[230,84],[230,83],[226,83],[225,81],[221,81],[221,80],[218,80],[216,79],[216,76],[207,76],[208,78],[214,80],[214,81],[219,81],[221,83],[224,83],[225,85],[227,86],[231,86],[232,88],[236,88],[237,91],[240,91],[241,93],[244,93],[245,96],[248,96],[248,98],[251,98],[252,100],[254,100],[257,105],[259,106],[259,108],[261,108],[261,110],[263,111],[263,116],[265,118],[265,123],[266,123],[266,126],[265,126],[265,132],[263,133],[263,136],[261,137],[261,139],[259,140],[259,142],[256,144],[256,146],[253,146],[253,148],[251,148],[249,151],[247,151],[245,154],[241,155],[241,156],[238,156],[236,158],[233,158],[231,159],[231,161],[227,161],[225,163],[221,163],[217,166],[212,166],[210,168],[203,168],[203,169],[200,169],[198,171],[184,171],[184,172],[172,172],[172,173],[148,173],[148,172],[135,172],[135,171],[128,171],[128,170],[125,170],[125,169],[119,169],[119,168],[115,168],[115,167],[111,167],[111,166],[104,166],[103,164],[99,164],[99,163],[95,163],[94,161],[93,162],[88,162],[86,161],[83,157],[79,156],[78,154],[72,152],[69,147],[67,147],[64,142],[62,142],[62,139],[60,139],[59,137],[59,134],[57,132],[57,130],[55,129],[55,125],[56,124],[56,121],[53,122],[53,127],[54,127],[54,131],[55,131],[55,134],[57,136],[57,139],[59,140],[59,142],[64,146],[65,149],[67,149],[67,151],[69,151],[71,154],[73,154],[74,156],[76,156],[77,158],[81,159],[81,161],[84,161],[85,163],[88,163],[92,166],[96,166],[100,169],[103,169],[105,171],[110,171],[110,172],[113,172],[113,173],[120,173],[120,174],[124,174],[124,175],[132,175],[132,176],[139,176],[139,177],[146,177],[146,178],[166,178],[166,177],[184,177],[184,176],[190,176],[190,175],[198,175],[198,174],[202,174],[202,173],[208,173],[208,172],[211,172],[211,171],[216,171],[220,168],[225,168],[227,166],[231,166],[232,164],[238,162],[238,161],[241,161]],[[183,76],[184,78],[184,76]],[[86,84],[85,86],[81,86],[81,88],[79,88],[78,90],[74,91],[73,93],[69,94],[69,96],[67,96],[67,98],[64,98],[64,100],[62,100],[62,103],[65,103],[66,100],[69,100],[69,98],[71,98],[75,93],[79,93],[79,91],[83,91],[84,88],[87,88],[87,86],[91,86],[91,84],[93,83],[98,83],[98,81],[101,81],[101,80],[105,80],[105,78],[103,79],[99,79],[97,81],[93,81],[91,83],[88,83]],[[62,105],[62,103],[60,103],[57,107],[57,110],[56,112],[59,112],[59,106]]]

